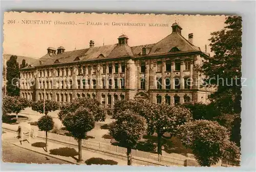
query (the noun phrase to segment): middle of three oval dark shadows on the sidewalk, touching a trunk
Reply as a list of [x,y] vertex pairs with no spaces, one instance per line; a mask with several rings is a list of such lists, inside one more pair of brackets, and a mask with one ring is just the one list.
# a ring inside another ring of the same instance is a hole
[[78,155],[78,152],[74,148],[58,148],[50,150],[50,154],[52,155],[59,155],[63,157],[72,157],[75,160],[78,160],[75,156]]

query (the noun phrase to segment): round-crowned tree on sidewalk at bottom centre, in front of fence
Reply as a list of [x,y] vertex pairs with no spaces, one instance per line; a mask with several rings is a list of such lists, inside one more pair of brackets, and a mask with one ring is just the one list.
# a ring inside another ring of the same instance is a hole
[[121,146],[127,148],[127,165],[132,165],[132,149],[146,131],[144,117],[130,110],[117,116],[117,120],[109,125],[109,133]]

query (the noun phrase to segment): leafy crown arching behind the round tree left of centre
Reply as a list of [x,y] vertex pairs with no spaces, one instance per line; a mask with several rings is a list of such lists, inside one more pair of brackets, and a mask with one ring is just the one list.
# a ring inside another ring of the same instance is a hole
[[101,108],[100,102],[96,99],[88,97],[72,100],[70,103],[63,104],[60,107],[58,118],[62,120],[67,114],[75,112],[79,107],[86,107],[93,113],[95,121],[104,121],[106,118],[103,108]]

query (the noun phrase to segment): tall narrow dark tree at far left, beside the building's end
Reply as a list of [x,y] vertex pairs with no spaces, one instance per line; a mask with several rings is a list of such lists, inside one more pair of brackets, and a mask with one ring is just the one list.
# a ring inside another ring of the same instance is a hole
[[7,61],[7,95],[19,96],[19,68],[18,68],[17,56],[11,56]]

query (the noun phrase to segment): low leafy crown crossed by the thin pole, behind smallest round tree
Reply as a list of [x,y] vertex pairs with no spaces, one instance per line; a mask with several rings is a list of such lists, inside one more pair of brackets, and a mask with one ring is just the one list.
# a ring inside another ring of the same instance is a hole
[[[44,113],[44,100],[39,100],[37,102],[33,102],[32,110],[37,111],[39,113]],[[52,100],[45,100],[45,114],[47,115],[49,112],[55,111],[59,109],[58,102]]]

